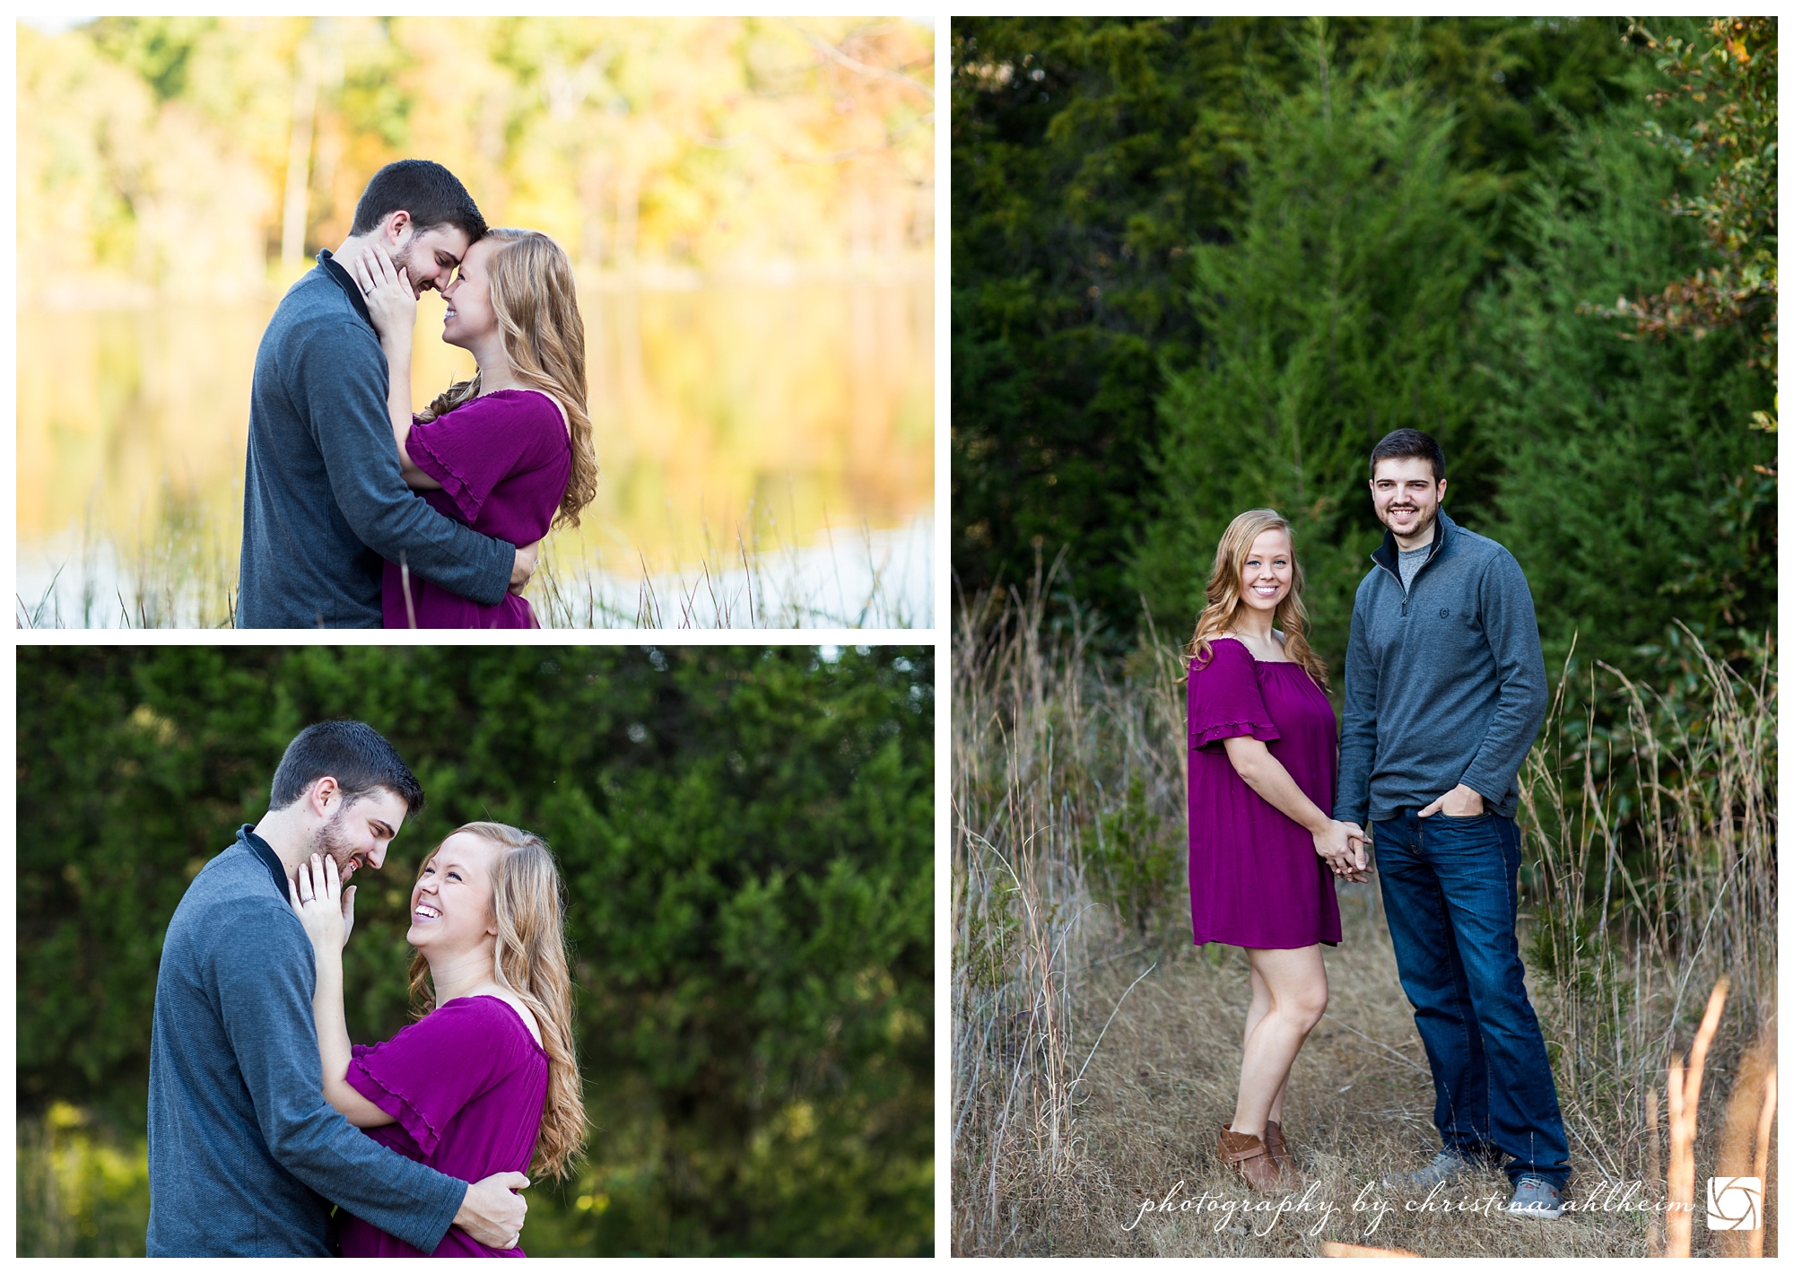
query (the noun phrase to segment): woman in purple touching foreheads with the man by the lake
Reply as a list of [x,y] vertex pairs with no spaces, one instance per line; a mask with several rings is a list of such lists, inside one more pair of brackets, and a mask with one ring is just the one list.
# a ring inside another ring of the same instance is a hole
[[[597,492],[585,409],[585,325],[567,253],[535,230],[488,230],[443,289],[443,341],[474,355],[472,380],[411,414],[411,330],[418,301],[404,269],[379,248],[357,257],[389,370],[388,409],[405,483],[481,535],[535,544],[551,526],[578,526]],[[388,628],[533,628],[529,603],[481,606],[386,563]]]

